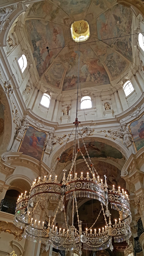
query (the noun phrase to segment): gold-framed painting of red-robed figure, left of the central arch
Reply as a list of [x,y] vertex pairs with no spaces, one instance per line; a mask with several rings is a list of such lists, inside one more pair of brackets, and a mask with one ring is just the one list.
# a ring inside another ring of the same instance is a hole
[[18,149],[24,155],[32,156],[38,161],[43,157],[43,149],[47,134],[43,131],[37,131],[33,126],[25,131],[23,141]]

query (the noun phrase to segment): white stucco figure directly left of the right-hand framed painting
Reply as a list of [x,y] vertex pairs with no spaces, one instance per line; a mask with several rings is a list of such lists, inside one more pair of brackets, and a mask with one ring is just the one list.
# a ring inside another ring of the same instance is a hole
[[127,126],[126,124],[121,125],[120,133],[123,137],[123,144],[125,144],[127,147],[129,147],[131,145],[131,142],[134,142],[134,140],[132,139],[131,132],[129,131],[129,129],[126,126]]

